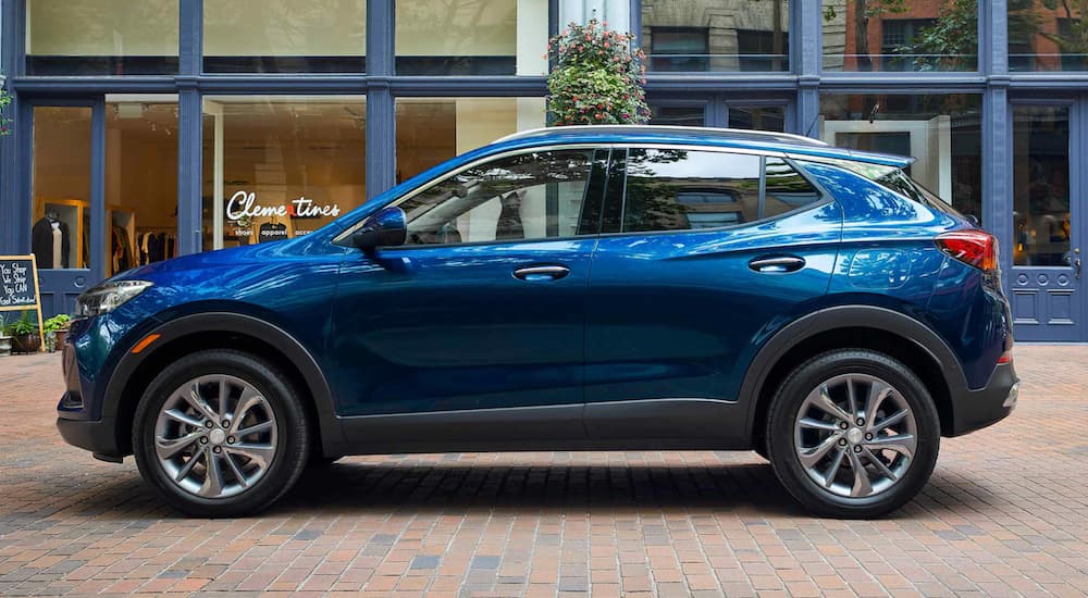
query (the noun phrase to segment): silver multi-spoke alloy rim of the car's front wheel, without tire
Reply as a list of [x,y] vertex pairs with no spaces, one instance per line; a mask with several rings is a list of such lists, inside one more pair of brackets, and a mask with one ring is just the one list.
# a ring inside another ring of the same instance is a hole
[[248,382],[225,374],[193,378],[175,389],[154,423],[154,453],[166,476],[201,498],[245,491],[276,454],[276,419]]

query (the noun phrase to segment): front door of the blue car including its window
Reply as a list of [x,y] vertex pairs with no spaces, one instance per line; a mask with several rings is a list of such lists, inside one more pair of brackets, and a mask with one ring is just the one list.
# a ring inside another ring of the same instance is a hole
[[443,439],[517,437],[535,414],[554,424],[542,434],[583,437],[584,301],[607,153],[499,157],[400,201],[406,245],[342,266],[331,341],[341,414]]

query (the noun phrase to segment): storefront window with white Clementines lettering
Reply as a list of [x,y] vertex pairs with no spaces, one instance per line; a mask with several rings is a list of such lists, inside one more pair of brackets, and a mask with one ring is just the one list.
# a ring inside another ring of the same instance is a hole
[[203,249],[312,233],[367,199],[362,96],[210,96]]

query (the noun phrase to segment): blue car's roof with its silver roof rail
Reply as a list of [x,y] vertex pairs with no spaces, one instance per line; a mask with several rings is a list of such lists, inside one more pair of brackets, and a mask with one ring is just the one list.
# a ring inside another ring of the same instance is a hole
[[494,145],[529,146],[541,141],[562,144],[683,144],[753,150],[770,150],[794,157],[834,158],[903,167],[913,158],[837,148],[819,139],[777,133],[737,128],[685,127],[669,125],[573,125],[534,128],[507,135]]

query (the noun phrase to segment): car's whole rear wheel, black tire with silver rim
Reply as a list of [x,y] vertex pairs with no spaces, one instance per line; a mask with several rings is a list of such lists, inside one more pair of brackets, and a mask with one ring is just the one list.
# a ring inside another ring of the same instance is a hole
[[926,386],[867,350],[818,356],[793,371],[770,406],[767,447],[782,485],[811,511],[870,518],[925,486],[940,421]]

